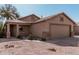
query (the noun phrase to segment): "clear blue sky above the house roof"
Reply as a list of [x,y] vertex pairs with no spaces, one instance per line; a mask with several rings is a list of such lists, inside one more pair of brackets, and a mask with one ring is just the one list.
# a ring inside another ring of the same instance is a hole
[[36,14],[50,16],[65,12],[74,21],[79,22],[78,4],[14,4],[21,16]]

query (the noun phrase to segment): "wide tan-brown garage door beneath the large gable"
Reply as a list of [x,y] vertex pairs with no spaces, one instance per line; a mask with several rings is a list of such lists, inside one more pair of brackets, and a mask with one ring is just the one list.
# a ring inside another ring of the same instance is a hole
[[69,25],[50,25],[51,38],[63,38],[70,36]]

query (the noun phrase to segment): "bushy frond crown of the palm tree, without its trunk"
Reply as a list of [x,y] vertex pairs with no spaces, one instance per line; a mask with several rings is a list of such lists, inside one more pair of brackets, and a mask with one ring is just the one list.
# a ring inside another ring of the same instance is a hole
[[13,20],[19,18],[17,9],[11,4],[6,4],[0,8],[1,18],[6,18],[6,20]]

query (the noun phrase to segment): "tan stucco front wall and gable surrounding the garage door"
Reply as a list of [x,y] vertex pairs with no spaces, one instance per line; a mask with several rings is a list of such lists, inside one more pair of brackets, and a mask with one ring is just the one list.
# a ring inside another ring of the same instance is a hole
[[[60,21],[60,17],[63,17],[63,21]],[[36,24],[33,24],[31,26],[31,32],[33,35],[35,36],[40,36],[42,37],[42,33],[43,32],[47,32],[48,35],[50,36],[50,24],[67,24],[67,25],[70,25],[71,26],[71,33],[73,35],[73,23],[64,15],[59,15],[59,16],[56,16],[56,17],[53,17],[51,19],[48,19],[46,21],[42,21],[42,22],[38,22]],[[64,29],[63,29],[64,30]],[[62,32],[62,31],[61,31]]]

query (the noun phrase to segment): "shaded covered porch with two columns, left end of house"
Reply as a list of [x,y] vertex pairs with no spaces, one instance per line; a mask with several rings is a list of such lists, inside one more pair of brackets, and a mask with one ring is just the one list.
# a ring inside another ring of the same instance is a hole
[[28,35],[30,23],[20,20],[7,20],[6,22],[6,38],[17,37],[19,35]]

